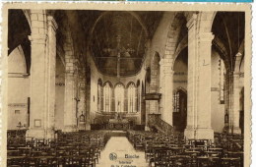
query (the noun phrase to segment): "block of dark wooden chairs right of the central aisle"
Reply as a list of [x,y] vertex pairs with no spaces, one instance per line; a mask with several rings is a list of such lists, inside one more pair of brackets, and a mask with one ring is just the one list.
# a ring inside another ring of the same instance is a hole
[[149,166],[243,166],[243,147],[237,146],[237,143],[243,145],[241,135],[216,134],[215,139],[210,140],[128,131],[127,137],[135,149],[145,151]]

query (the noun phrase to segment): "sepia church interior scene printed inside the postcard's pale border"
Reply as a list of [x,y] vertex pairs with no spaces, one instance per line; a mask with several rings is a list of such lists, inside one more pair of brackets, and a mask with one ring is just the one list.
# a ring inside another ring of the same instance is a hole
[[244,12],[10,9],[7,165],[243,166],[244,36]]

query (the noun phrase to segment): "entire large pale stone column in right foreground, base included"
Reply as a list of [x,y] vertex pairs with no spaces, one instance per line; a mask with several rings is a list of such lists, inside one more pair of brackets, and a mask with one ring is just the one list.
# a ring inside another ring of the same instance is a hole
[[211,128],[211,54],[214,35],[197,33],[197,15],[188,27],[187,139],[214,139]]

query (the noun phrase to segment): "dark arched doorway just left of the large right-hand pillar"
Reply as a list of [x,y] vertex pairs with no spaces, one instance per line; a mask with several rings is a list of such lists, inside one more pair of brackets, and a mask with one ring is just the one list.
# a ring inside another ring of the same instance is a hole
[[183,132],[187,126],[187,92],[183,88],[173,93],[172,119],[175,130]]

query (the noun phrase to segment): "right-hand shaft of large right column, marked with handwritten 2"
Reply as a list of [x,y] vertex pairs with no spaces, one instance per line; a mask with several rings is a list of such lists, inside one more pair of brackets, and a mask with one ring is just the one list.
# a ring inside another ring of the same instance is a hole
[[211,127],[211,60],[213,39],[214,35],[212,32],[199,34],[196,139],[214,139],[214,131]]

